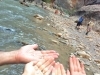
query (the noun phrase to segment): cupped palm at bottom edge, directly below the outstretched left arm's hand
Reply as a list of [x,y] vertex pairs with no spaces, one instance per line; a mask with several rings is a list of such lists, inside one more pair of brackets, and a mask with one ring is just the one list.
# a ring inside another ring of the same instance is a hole
[[55,61],[53,58],[41,59],[38,62],[30,62],[25,65],[23,75],[49,75]]

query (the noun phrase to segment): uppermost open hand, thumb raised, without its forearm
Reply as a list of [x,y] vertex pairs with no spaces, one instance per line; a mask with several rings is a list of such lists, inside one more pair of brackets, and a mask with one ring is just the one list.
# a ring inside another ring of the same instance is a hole
[[54,50],[46,50],[46,51],[35,51],[38,45],[26,45],[21,47],[18,52],[16,53],[16,60],[18,63],[28,63],[30,61],[38,61],[39,59],[45,57],[53,57],[58,58],[58,53]]

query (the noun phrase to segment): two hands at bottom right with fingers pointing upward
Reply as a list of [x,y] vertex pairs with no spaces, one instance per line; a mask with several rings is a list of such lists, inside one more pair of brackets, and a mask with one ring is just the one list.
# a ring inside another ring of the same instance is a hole
[[52,75],[86,75],[84,65],[79,60],[72,56],[69,58],[69,70],[65,72],[64,66],[56,63],[52,70]]

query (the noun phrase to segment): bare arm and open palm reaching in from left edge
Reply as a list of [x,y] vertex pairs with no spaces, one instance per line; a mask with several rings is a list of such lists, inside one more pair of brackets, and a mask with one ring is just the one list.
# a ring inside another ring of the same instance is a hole
[[10,52],[0,52],[0,65],[5,64],[18,64],[18,63],[28,63],[30,61],[38,61],[45,57],[58,58],[58,53],[54,50],[39,51],[37,44],[26,45],[18,50],[13,50]]

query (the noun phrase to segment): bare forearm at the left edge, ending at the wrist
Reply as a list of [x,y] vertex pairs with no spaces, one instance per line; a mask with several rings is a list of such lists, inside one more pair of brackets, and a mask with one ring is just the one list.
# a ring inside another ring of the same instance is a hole
[[16,52],[17,51],[0,52],[0,65],[16,64]]

